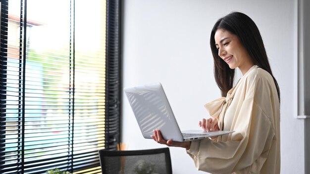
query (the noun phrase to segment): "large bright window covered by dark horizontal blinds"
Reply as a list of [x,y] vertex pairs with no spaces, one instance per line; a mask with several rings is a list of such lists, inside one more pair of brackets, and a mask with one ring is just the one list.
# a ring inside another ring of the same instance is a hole
[[118,0],[1,0],[0,173],[100,174],[119,141]]

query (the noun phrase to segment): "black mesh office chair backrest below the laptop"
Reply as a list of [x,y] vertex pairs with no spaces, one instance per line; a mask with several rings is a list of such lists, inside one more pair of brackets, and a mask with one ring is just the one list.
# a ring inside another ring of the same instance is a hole
[[172,174],[169,148],[99,150],[103,174]]

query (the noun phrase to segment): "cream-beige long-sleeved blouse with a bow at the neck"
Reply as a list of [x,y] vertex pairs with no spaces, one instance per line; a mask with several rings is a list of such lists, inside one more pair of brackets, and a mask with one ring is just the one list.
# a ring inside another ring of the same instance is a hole
[[187,153],[198,170],[212,174],[280,174],[280,108],[272,76],[254,65],[221,97],[205,105],[220,130],[192,141]]

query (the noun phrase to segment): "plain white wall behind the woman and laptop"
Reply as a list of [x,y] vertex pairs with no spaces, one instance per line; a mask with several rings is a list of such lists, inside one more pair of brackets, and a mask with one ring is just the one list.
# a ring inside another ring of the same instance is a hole
[[[260,29],[281,89],[281,174],[305,173],[304,120],[296,119],[297,2],[292,0],[124,0],[123,87],[161,82],[181,130],[207,118],[203,105],[220,97],[209,35],[231,11]],[[123,95],[124,96],[124,95]],[[125,97],[122,142],[128,150],[164,147],[144,139]],[[170,147],[174,174],[203,174],[181,148]]]

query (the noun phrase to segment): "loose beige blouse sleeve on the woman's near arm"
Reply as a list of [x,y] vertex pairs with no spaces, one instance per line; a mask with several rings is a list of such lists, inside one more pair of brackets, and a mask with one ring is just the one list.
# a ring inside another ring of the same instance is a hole
[[[261,95],[259,90],[265,84],[258,82],[258,79],[248,79],[245,83],[247,97],[240,102],[240,111],[234,116],[235,132],[231,134],[231,138],[224,142],[207,138],[192,141],[190,149],[187,150],[198,170],[212,174],[230,174],[250,167],[256,160],[261,164],[266,160],[274,138],[273,124],[270,116],[268,117],[268,114],[272,113],[265,113],[268,110],[262,109],[259,100],[265,97],[256,97],[257,94]],[[264,92],[264,95],[268,95],[268,92]]]

